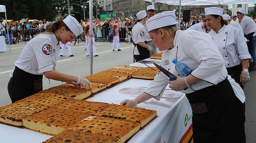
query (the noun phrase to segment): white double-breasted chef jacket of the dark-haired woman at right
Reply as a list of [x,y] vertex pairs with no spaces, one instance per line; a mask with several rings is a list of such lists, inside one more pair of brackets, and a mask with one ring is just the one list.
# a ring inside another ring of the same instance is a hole
[[214,30],[208,34],[220,50],[226,68],[234,67],[239,65],[241,60],[251,58],[244,35],[238,28],[224,25],[218,34]]

